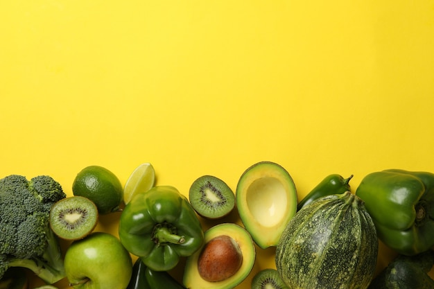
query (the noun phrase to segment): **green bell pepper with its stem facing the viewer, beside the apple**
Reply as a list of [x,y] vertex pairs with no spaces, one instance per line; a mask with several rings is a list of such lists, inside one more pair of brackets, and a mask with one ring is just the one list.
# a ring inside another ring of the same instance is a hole
[[173,186],[155,186],[125,206],[119,220],[123,246],[155,271],[168,271],[204,242],[189,200]]

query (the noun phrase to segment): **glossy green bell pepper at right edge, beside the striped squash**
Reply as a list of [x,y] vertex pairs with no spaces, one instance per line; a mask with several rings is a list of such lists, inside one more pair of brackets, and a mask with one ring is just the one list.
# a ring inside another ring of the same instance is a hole
[[365,202],[379,239],[413,256],[434,246],[434,174],[383,170],[362,179],[356,195]]

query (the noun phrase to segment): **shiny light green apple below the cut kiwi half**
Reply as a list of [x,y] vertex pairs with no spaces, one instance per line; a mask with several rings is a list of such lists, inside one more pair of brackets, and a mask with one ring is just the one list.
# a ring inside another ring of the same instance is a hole
[[132,275],[132,259],[118,238],[94,232],[69,246],[64,270],[75,289],[125,289]]

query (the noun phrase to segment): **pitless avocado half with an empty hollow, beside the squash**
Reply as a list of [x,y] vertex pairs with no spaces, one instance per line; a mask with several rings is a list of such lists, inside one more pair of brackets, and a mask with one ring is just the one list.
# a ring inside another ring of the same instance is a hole
[[297,212],[293,178],[272,161],[254,164],[238,180],[236,205],[254,242],[262,249],[274,247]]

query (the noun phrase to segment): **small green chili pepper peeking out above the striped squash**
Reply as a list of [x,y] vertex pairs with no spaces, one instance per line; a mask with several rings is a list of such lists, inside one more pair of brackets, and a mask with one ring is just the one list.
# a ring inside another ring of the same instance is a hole
[[300,211],[306,204],[310,204],[314,200],[325,197],[326,195],[334,195],[351,191],[349,186],[349,180],[353,177],[350,175],[347,179],[344,179],[341,175],[332,174],[325,177],[320,184],[310,191],[306,197],[301,200],[297,205],[297,211]]

